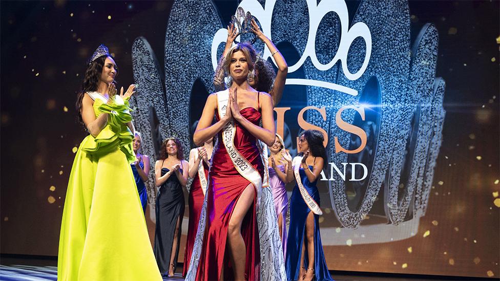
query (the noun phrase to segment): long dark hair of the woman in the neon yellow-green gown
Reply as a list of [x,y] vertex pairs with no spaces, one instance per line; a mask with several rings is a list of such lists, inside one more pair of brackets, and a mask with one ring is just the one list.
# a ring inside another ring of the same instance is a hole
[[[87,70],[85,71],[84,81],[81,82],[80,91],[76,96],[76,113],[78,114],[78,121],[80,121],[80,123],[84,126],[84,120],[81,119],[82,100],[84,99],[86,92],[97,91],[99,77],[102,73],[102,68],[104,67],[104,62],[107,57],[108,55],[100,56],[89,64],[89,67],[87,67]],[[112,56],[109,57],[113,58]],[[118,76],[118,70],[116,71],[116,76]]]

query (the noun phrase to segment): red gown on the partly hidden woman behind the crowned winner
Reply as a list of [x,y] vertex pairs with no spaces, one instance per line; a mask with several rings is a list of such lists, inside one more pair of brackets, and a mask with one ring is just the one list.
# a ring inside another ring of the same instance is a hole
[[[203,169],[205,170],[205,176],[209,175],[209,166],[203,162]],[[184,252],[184,267],[182,268],[182,276],[186,276],[188,273],[189,263],[191,261],[191,253],[193,252],[193,246],[195,244],[196,232],[198,231],[198,222],[200,221],[201,207],[203,206],[203,200],[205,196],[203,195],[203,190],[201,189],[201,183],[199,175],[196,174],[193,183],[191,184],[191,190],[189,192],[189,226],[188,226],[188,237],[186,237],[186,249]]]

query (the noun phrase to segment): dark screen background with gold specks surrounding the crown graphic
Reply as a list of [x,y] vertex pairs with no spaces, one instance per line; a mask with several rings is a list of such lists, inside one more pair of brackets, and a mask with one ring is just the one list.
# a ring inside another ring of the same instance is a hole
[[[227,24],[238,2],[214,3]],[[74,105],[86,61],[106,44],[118,64],[118,85],[133,83],[132,43],[147,38],[163,61],[172,5],[0,2],[2,253],[57,255],[73,149],[87,135]],[[347,2],[350,18],[358,5]],[[500,275],[499,6],[498,1],[409,2],[412,39],[425,23],[439,31],[436,77],[446,81],[443,143],[428,208],[418,233],[408,239],[325,246],[330,270]],[[278,106],[292,107],[295,117],[306,104],[287,99],[289,87]],[[196,111],[204,100],[193,103]],[[323,192],[328,197],[326,188]],[[322,207],[327,223],[331,205]],[[148,225],[152,234],[151,219]],[[180,252],[181,260],[183,248]]]

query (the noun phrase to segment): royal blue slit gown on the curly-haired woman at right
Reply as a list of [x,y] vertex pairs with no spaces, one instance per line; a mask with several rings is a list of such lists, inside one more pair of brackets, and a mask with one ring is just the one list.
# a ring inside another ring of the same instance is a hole
[[[309,166],[312,170],[313,166]],[[320,205],[320,194],[315,182],[309,182],[305,175],[304,169],[299,169],[299,175],[302,179],[302,184],[309,193],[309,195]],[[305,223],[307,215],[311,210],[305,204],[304,199],[299,191],[299,186],[295,184],[294,191],[290,197],[290,227],[288,229],[288,241],[286,244],[286,257],[285,268],[286,278],[288,281],[297,280],[299,278],[300,270],[300,255],[302,253],[302,245],[304,241]],[[321,244],[320,228],[319,228],[319,215],[314,215],[314,269],[316,280],[333,280],[328,267],[326,266],[325,255],[323,253],[323,246]],[[307,248],[305,250],[304,267],[307,268],[308,255]]]

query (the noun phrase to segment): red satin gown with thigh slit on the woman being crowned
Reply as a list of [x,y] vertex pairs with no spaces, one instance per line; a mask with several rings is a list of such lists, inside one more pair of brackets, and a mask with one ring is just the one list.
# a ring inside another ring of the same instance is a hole
[[[248,121],[259,125],[261,114],[253,107],[246,107],[240,110],[240,113]],[[219,120],[218,113],[216,118]],[[238,122],[235,124],[235,147],[263,177],[264,165],[256,145],[256,138]],[[250,184],[235,169],[233,162],[227,155],[222,143],[221,132],[219,132],[218,137],[219,143],[218,147],[214,148],[210,182],[207,188],[206,232],[196,280],[218,280],[222,267],[224,267],[223,279],[234,280],[229,249],[226,251],[227,227],[238,198],[245,187]],[[259,231],[255,213],[257,193],[255,194],[254,203],[248,209],[241,224],[241,234],[246,247],[245,279],[253,281],[260,279]]]

